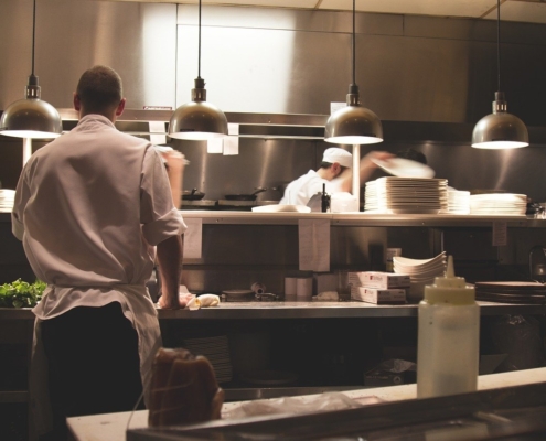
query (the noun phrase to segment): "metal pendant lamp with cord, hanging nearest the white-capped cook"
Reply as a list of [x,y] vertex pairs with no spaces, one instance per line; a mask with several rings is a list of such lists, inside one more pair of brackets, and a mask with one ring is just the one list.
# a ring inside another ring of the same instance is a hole
[[353,0],[353,83],[349,86],[347,105],[334,111],[326,121],[324,140],[340,144],[373,144],[383,141],[381,120],[361,106],[355,68],[355,0]]

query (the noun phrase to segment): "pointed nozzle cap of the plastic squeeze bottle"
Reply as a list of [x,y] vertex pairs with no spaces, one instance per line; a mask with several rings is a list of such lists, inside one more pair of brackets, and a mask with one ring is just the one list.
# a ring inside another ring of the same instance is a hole
[[424,300],[430,304],[472,304],[475,301],[475,289],[467,284],[463,277],[457,277],[453,269],[453,257],[448,256],[448,269],[443,277],[437,277],[433,284],[425,287]]

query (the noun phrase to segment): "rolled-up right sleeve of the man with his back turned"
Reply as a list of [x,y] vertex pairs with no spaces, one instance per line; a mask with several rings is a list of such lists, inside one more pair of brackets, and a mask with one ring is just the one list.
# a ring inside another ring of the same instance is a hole
[[188,228],[174,207],[167,171],[153,148],[147,150],[142,162],[140,223],[146,241],[152,246]]

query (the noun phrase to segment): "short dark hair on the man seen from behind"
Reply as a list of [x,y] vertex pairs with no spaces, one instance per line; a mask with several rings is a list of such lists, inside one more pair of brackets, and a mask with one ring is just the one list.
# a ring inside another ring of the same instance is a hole
[[87,114],[104,114],[121,101],[121,77],[108,66],[93,66],[79,77],[76,94]]

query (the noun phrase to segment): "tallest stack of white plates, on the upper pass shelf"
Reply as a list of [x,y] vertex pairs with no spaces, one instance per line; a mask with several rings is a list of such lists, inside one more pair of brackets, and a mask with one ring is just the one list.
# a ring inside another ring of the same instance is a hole
[[379,214],[438,214],[448,208],[448,180],[379,178],[366,183],[364,211]]

